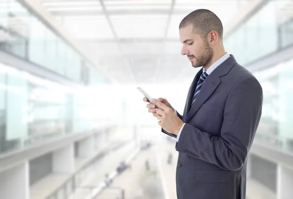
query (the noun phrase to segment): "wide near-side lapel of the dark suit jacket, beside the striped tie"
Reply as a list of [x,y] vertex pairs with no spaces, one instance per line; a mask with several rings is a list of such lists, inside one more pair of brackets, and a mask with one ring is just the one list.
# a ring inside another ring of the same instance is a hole
[[[230,69],[236,64],[236,60],[232,55],[230,55],[230,58],[225,60],[222,64],[220,64],[205,80],[202,88],[200,89],[200,92],[195,100],[195,102],[191,105],[192,99],[190,99],[190,96],[188,95],[188,106],[190,107],[190,110],[188,111],[186,117],[184,118],[184,122],[188,122],[199,110],[199,108],[206,102],[206,100],[209,99],[209,96],[212,95],[212,93],[216,90],[216,88],[221,83],[220,77],[223,75],[228,74]],[[198,74],[197,74],[198,75]],[[196,83],[195,83],[196,85]],[[192,86],[193,87],[193,86]],[[193,87],[195,89],[195,87]],[[189,90],[189,92],[193,93],[193,90]],[[187,108],[188,108],[187,106]]]

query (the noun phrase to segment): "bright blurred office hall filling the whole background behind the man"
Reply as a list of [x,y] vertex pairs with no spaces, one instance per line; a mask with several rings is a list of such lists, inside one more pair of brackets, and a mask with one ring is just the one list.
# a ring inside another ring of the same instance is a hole
[[176,140],[136,88],[183,113],[199,8],[264,91],[247,199],[293,199],[293,0],[0,0],[0,199],[176,199]]

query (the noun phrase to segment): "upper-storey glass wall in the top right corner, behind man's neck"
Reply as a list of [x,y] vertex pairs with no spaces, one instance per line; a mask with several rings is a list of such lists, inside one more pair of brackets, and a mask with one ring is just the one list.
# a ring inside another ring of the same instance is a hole
[[245,65],[293,45],[293,0],[268,0],[224,39],[227,52]]

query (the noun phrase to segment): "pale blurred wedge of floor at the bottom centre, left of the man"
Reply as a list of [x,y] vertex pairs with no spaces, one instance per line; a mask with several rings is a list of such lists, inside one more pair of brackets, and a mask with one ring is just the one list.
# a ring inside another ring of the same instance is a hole
[[[131,168],[117,176],[96,199],[122,199],[120,189],[125,191],[125,199],[164,199],[161,174],[155,154],[155,147],[141,151],[131,161]],[[146,160],[150,165],[149,170],[146,170]]]

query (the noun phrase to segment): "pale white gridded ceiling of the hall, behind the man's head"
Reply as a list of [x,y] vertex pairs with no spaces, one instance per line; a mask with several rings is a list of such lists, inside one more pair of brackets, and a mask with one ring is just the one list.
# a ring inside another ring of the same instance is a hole
[[197,72],[180,55],[178,26],[193,10],[225,24],[249,0],[40,0],[121,83],[189,80]]

